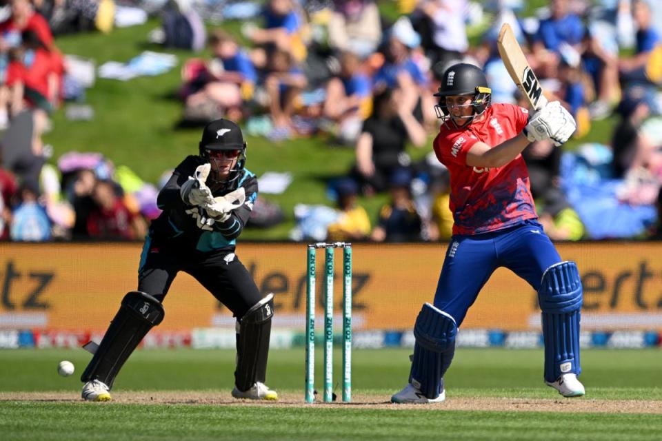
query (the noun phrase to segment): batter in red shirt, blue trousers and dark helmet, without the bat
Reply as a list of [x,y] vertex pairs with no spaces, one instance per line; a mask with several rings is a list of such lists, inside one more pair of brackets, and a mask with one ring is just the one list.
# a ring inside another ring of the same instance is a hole
[[434,152],[450,172],[453,237],[434,302],[414,323],[414,356],[408,384],[397,403],[441,402],[443,375],[469,307],[498,267],[506,267],[538,291],[545,342],[545,383],[565,397],[583,396],[577,376],[582,287],[574,262],[563,261],[538,223],[521,152],[532,141],[557,147],[576,128],[558,101],[529,114],[511,104],[492,104],[485,74],[459,63],[442,77],[437,116],[443,121]]

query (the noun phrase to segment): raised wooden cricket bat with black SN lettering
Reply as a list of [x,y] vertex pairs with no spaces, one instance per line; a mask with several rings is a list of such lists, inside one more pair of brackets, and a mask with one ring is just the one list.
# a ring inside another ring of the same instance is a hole
[[540,110],[547,104],[547,98],[543,95],[543,90],[536,74],[529,66],[522,48],[519,47],[515,34],[508,23],[503,23],[499,38],[496,40],[496,48],[499,49],[499,55],[503,60],[510,78],[517,85],[520,92],[529,101],[533,110]]

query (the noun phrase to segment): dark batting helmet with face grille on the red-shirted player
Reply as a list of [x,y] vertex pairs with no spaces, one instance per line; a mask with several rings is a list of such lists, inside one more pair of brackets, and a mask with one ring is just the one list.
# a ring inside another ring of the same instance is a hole
[[[492,89],[488,87],[488,79],[485,78],[483,70],[468,63],[454,64],[441,76],[439,92],[434,94],[439,96],[439,104],[434,106],[434,111],[437,112],[437,118],[442,119],[444,123],[450,119],[446,96],[454,95],[474,96],[470,104],[474,109],[472,119],[483,114],[492,103]],[[453,123],[455,124],[455,121]]]

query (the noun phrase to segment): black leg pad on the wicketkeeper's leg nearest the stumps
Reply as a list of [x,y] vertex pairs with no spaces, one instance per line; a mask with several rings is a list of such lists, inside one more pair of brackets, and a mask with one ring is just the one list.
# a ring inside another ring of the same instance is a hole
[[264,382],[274,316],[274,295],[269,294],[251,307],[237,322],[237,370],[234,383],[247,391],[254,382]]

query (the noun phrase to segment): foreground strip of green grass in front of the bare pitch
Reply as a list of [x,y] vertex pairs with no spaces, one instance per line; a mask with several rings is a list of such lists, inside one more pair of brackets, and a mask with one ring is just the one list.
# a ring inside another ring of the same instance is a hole
[[4,440],[659,440],[659,415],[2,404]]

